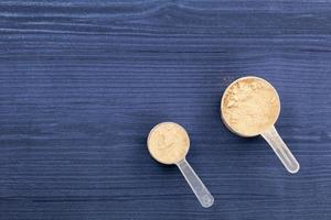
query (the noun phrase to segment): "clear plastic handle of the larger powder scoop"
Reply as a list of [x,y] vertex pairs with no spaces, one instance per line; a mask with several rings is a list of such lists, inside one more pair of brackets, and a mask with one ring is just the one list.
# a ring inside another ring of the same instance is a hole
[[284,143],[274,125],[268,131],[261,133],[261,136],[269,143],[289,173],[295,174],[300,169],[298,161],[292,155],[286,143]]

